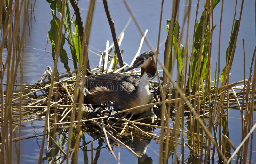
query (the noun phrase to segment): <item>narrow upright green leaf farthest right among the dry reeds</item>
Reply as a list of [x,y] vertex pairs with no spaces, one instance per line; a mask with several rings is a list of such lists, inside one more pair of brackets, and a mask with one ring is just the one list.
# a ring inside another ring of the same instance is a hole
[[[239,20],[235,20],[235,24],[234,24],[234,28],[233,28],[233,32],[231,35],[231,40],[230,40],[230,45],[228,46],[227,50],[226,50],[226,61],[227,61],[227,66],[228,66],[228,72],[230,72],[232,63],[233,63],[233,59],[234,59],[234,55],[232,55],[232,52],[235,53],[236,50],[236,32],[238,31],[238,23]],[[226,72],[226,66],[223,68],[221,76],[220,76],[220,80],[221,80],[221,85],[225,85],[227,82],[224,82],[224,76],[225,76],[225,72]]]

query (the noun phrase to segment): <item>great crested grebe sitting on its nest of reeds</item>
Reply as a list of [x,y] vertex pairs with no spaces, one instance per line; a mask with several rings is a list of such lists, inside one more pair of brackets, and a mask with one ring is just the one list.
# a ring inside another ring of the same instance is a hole
[[[153,97],[149,90],[148,82],[156,73],[154,52],[142,53],[136,58],[132,66],[124,72],[141,67],[141,76],[124,75],[119,73],[106,73],[86,77],[85,102],[100,104],[102,102],[118,102],[121,110],[129,109],[139,105],[151,103]],[[150,108],[141,108],[129,111],[131,114],[141,114]]]

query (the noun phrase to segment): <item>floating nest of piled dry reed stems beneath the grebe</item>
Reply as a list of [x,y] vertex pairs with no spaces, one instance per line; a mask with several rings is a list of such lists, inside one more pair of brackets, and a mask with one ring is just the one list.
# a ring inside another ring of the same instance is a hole
[[[145,155],[145,152],[143,150],[134,151],[136,148],[131,146],[134,144],[128,144],[130,145],[128,146],[127,143],[129,143],[131,139],[132,141],[136,139],[138,141],[143,140],[143,143],[145,143],[147,141],[150,142],[152,139],[158,142],[161,138],[159,133],[155,133],[155,130],[158,129],[159,131],[159,128],[163,127],[161,126],[162,99],[158,82],[150,81],[150,90],[154,97],[154,105],[151,110],[143,115],[131,116],[131,114],[120,112],[117,102],[105,102],[100,105],[93,105],[84,104],[83,102],[79,103],[79,101],[74,100],[79,99],[79,96],[77,98],[74,97],[77,75],[74,75],[73,72],[65,73],[55,78],[54,89],[51,100],[49,101],[51,77],[51,69],[48,68],[38,83],[15,85],[17,92],[13,93],[12,100],[12,121],[14,125],[22,126],[22,122],[44,119],[47,116],[49,116],[49,119],[46,119],[49,120],[47,127],[50,129],[63,129],[63,127],[76,126],[79,122],[81,123],[79,125],[82,125],[84,133],[87,133],[94,139],[104,138],[110,150],[110,145],[115,146],[118,143],[129,149],[138,157]],[[230,87],[236,84],[226,86],[226,89],[230,89]],[[223,90],[224,89],[225,88],[223,88]],[[242,90],[241,87],[235,89],[239,91]],[[241,92],[239,93],[240,96],[242,96]],[[239,96],[239,94],[237,95]],[[213,96],[214,95],[211,95],[211,97]],[[232,94],[229,94],[229,96],[230,100],[234,102],[234,99],[232,99],[234,96],[232,97]],[[176,89],[169,90],[166,98],[175,100],[175,97],[179,97]],[[193,98],[191,98],[191,100],[193,101]],[[175,101],[173,101],[173,103],[166,103],[167,113],[172,121],[175,121],[174,116],[176,109],[178,109],[178,101],[179,100],[176,101],[177,103],[175,103]],[[79,104],[82,105],[79,107]],[[204,110],[197,111],[200,116],[204,116],[204,120],[207,120],[209,114],[208,104],[209,103],[202,104],[202,106],[204,105]],[[236,103],[234,104],[236,107]],[[78,109],[81,109],[81,111]],[[190,116],[191,112],[186,103],[182,106],[181,110],[182,114],[184,114],[183,116]],[[153,117],[152,111],[155,113]],[[80,113],[80,115],[78,113]],[[166,117],[164,120],[167,121]],[[170,128],[170,130],[173,129]],[[190,133],[188,131],[183,132]],[[127,139],[126,141],[125,138]],[[164,138],[164,140],[166,139],[168,138]]]

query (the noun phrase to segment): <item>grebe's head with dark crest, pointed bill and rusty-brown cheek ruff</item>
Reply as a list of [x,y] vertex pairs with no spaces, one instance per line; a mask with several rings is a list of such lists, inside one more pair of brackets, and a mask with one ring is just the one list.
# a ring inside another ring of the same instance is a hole
[[148,76],[153,77],[156,73],[156,63],[153,57],[154,53],[154,51],[147,51],[142,53],[136,58],[132,66],[127,68],[124,72],[130,71],[137,67],[141,67],[141,75],[143,75],[145,72],[148,74]]

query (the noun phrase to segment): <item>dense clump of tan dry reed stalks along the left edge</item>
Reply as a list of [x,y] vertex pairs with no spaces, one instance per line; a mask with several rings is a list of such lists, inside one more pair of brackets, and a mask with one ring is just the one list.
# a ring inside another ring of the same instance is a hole
[[[3,27],[2,30],[2,39],[0,44],[0,90],[1,93],[1,137],[2,142],[4,142],[4,146],[1,146],[0,160],[6,163],[12,163],[13,155],[12,155],[12,135],[15,130],[13,128],[13,120],[12,120],[12,94],[14,91],[14,83],[17,77],[19,61],[21,59],[21,51],[23,56],[24,44],[26,39],[27,25],[28,25],[28,6],[29,1],[7,1],[5,3],[1,3],[0,9],[1,18],[0,22]],[[7,5],[7,6],[5,6]],[[5,10],[5,11],[4,11]],[[22,17],[21,17],[22,15]],[[23,18],[23,26],[20,27],[21,18]],[[12,20],[12,21],[9,21]],[[20,31],[22,28],[22,31]],[[3,49],[4,46],[8,46],[7,49],[7,57],[5,63],[3,63]],[[23,60],[23,59],[22,59]],[[23,61],[21,60],[21,64]],[[3,66],[3,67],[2,67]],[[21,66],[22,68],[22,66]],[[4,100],[4,85],[3,78],[4,74],[9,77],[7,79],[6,86],[6,97]],[[20,72],[23,73],[22,71]],[[21,75],[22,80],[22,75]],[[19,99],[21,100],[21,99]],[[4,103],[6,102],[6,103]],[[19,115],[21,117],[21,115]],[[9,121],[8,121],[9,120]],[[8,132],[9,126],[9,132]],[[19,128],[20,132],[20,128]],[[9,140],[10,137],[10,140]],[[10,142],[9,142],[10,141]],[[17,162],[20,162],[20,135],[19,135],[19,146],[18,146],[18,154],[17,154]]]

